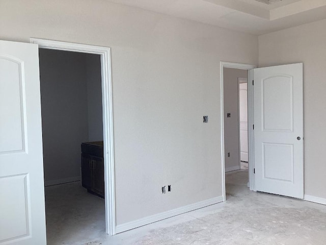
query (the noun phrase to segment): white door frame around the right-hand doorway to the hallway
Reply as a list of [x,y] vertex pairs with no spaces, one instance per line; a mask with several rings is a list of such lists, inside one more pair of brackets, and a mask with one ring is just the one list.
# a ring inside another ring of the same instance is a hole
[[223,201],[226,201],[225,192],[225,157],[224,157],[224,91],[223,91],[223,68],[235,68],[248,70],[248,165],[249,165],[249,188],[255,190],[254,180],[254,131],[250,125],[253,125],[253,85],[249,81],[253,80],[253,72],[251,69],[256,68],[256,65],[241,64],[221,61],[221,160],[222,160],[222,186],[223,186]]

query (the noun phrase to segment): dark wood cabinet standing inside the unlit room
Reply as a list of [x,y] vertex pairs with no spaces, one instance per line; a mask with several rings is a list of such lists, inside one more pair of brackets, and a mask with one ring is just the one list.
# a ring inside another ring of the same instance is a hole
[[82,185],[104,198],[103,141],[85,142],[82,148]]

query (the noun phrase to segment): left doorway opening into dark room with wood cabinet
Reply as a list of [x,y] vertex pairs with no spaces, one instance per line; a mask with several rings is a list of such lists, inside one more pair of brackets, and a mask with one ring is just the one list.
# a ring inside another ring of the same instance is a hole
[[40,48],[39,64],[46,231],[54,244],[71,227],[105,230],[101,60]]

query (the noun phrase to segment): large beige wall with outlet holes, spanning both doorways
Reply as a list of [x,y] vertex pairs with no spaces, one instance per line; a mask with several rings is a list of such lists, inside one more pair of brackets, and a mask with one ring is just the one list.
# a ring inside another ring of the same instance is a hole
[[0,39],[112,48],[118,225],[222,196],[220,61],[257,64],[257,36],[102,0],[0,5]]

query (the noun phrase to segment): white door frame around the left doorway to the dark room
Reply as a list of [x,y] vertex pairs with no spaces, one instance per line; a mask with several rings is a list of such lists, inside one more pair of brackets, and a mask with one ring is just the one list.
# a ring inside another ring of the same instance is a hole
[[113,106],[110,47],[77,44],[31,38],[31,43],[39,48],[96,54],[101,57],[102,108],[103,108],[103,151],[104,151],[104,190],[105,190],[105,231],[116,234],[114,145],[113,145]]

